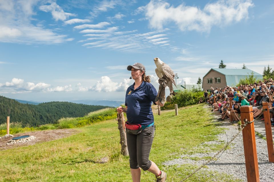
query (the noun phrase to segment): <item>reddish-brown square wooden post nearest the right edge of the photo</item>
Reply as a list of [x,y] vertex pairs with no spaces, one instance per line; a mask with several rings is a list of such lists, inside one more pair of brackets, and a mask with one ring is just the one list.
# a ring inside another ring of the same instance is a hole
[[265,118],[265,135],[268,150],[268,160],[269,162],[274,162],[274,148],[268,102],[263,102],[263,109],[265,109],[265,111],[263,111],[263,118]]

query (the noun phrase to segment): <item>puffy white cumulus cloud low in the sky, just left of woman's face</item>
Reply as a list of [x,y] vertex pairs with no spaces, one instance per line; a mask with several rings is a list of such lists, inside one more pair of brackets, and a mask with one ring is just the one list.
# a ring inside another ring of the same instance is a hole
[[117,83],[113,82],[108,76],[102,76],[90,90],[96,92],[126,91],[129,82],[130,79],[124,79],[123,82]]

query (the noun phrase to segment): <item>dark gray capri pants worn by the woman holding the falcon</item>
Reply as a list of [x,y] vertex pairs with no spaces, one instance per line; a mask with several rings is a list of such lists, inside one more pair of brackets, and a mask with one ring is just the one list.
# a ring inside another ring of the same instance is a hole
[[148,157],[153,142],[154,132],[155,125],[144,128],[143,131],[137,135],[126,133],[131,169],[138,169],[140,167],[146,171],[150,168],[151,161],[148,160]]

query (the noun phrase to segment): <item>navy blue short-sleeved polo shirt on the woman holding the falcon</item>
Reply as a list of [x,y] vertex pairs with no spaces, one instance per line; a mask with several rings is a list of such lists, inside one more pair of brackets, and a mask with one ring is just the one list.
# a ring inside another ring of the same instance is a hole
[[134,85],[135,83],[126,90],[126,117],[129,123],[148,126],[154,122],[151,105],[155,101],[157,91],[151,83],[145,81],[135,90]]

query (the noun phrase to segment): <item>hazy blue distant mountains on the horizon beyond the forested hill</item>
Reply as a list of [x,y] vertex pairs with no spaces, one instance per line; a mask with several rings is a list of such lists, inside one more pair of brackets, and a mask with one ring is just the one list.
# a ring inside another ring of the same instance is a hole
[[[24,101],[24,100],[19,100],[19,99],[15,99],[16,101],[18,101],[19,103],[23,103],[23,104],[31,104],[31,105],[38,105],[40,104],[40,102],[36,102],[36,101]],[[86,105],[100,105],[100,106],[110,106],[110,107],[118,107],[122,104],[125,104],[124,101],[108,101],[108,100],[76,100],[76,101],[68,101],[68,102],[72,102],[72,103],[76,103],[76,104],[86,104]]]

